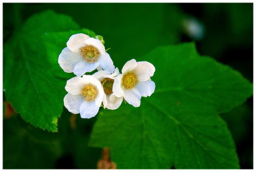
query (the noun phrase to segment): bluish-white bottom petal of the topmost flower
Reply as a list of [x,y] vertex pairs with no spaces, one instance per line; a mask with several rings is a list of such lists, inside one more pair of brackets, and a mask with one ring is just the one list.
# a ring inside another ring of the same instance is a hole
[[92,72],[93,70],[95,70],[95,68],[97,68],[98,65],[99,62],[88,63],[84,60],[80,61],[76,64],[74,68],[74,74],[80,77],[85,72]]

